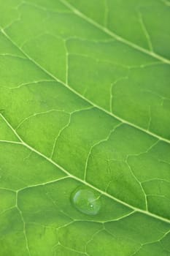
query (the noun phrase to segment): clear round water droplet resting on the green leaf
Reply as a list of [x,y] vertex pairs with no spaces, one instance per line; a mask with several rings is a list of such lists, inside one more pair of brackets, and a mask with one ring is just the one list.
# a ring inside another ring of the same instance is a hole
[[83,214],[96,215],[101,208],[101,200],[97,192],[79,187],[72,193],[72,203]]

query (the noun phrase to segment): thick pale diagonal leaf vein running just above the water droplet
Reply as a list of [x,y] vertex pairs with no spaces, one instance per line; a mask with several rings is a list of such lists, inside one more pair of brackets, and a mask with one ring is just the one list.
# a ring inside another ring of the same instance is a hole
[[[106,197],[109,197],[109,198],[111,198],[112,200],[115,200],[117,203],[120,203],[120,204],[122,204],[123,206],[126,206],[126,207],[128,207],[128,208],[131,208],[131,209],[133,209],[134,211],[138,211],[138,212],[140,212],[140,213],[142,213],[142,214],[145,214],[145,215],[147,215],[147,216],[153,217],[153,218],[155,218],[155,219],[160,219],[160,220],[163,221],[163,222],[170,223],[170,219],[166,219],[166,218],[163,218],[163,217],[158,216],[158,215],[156,215],[156,214],[152,214],[150,211],[144,211],[144,210],[142,210],[142,209],[140,209],[140,208],[136,208],[136,207],[134,207],[134,206],[131,206],[130,204],[125,203],[124,201],[118,199],[117,197],[114,197],[114,196],[112,196],[112,195],[109,195],[107,192],[104,192],[104,191],[102,191],[101,189],[98,189],[97,187],[94,187],[92,184],[88,183],[87,181],[84,181],[84,180],[82,180],[81,178],[78,178],[77,176],[72,175],[71,173],[69,173],[68,170],[64,169],[61,165],[58,165],[58,164],[57,164],[56,162],[54,162],[52,159],[50,159],[49,157],[46,157],[46,156],[45,156],[44,154],[42,154],[41,152],[37,151],[35,148],[33,148],[33,147],[29,146],[27,143],[25,143],[25,142],[23,141],[23,139],[20,138],[20,135],[18,135],[18,132],[16,132],[15,129],[12,127],[12,125],[9,124],[9,121],[7,121],[7,119],[6,119],[1,113],[0,113],[0,116],[1,116],[1,118],[4,119],[4,121],[6,122],[6,124],[8,125],[8,127],[9,127],[10,129],[12,129],[12,132],[14,132],[15,135],[18,137],[18,139],[19,139],[20,142],[21,142],[21,145],[26,146],[26,148],[28,148],[28,149],[31,150],[31,151],[34,151],[34,152],[35,152],[36,154],[38,154],[40,157],[45,158],[48,162],[52,163],[53,165],[55,165],[56,167],[58,167],[58,169],[62,170],[63,173],[66,173],[66,175],[69,176],[69,178],[73,178],[73,179],[76,180],[76,181],[80,181],[82,184],[85,184],[86,186],[90,187],[91,189],[96,190],[96,191],[99,192],[101,195],[104,195],[104,196],[106,196]],[[58,181],[58,179],[56,179],[56,181]],[[53,182],[55,182],[55,181],[53,181]]]

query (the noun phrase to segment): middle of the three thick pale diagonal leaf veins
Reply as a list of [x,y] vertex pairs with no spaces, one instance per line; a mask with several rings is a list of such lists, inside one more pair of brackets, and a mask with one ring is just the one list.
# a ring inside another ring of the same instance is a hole
[[61,83],[62,86],[65,86],[67,89],[69,89],[69,91],[72,91],[72,93],[74,93],[75,95],[77,95],[78,97],[80,97],[81,99],[84,99],[85,102],[90,103],[90,105],[92,105],[95,108],[98,108],[99,110],[103,111],[104,113],[107,113],[109,116],[112,116],[114,118],[116,118],[117,120],[121,121],[123,124],[128,124],[131,127],[134,127],[136,129],[141,130],[142,132],[147,133],[148,135],[151,135],[152,137],[158,138],[158,140],[163,140],[166,143],[170,144],[170,140],[163,138],[159,135],[156,135],[153,132],[148,131],[147,129],[144,129],[142,127],[139,127],[136,124],[131,123],[130,121],[126,121],[123,118],[120,118],[119,116],[115,115],[114,113],[109,112],[108,110],[105,110],[104,108],[101,108],[100,106],[96,105],[95,103],[93,103],[92,101],[90,101],[90,99],[87,99],[85,97],[83,97],[79,92],[75,91],[74,89],[72,89],[72,87],[70,87],[68,84],[64,83],[63,81],[59,80],[58,78],[55,77],[55,75],[51,74],[50,72],[48,72],[44,67],[42,67],[41,65],[39,65],[36,61],[34,61],[34,59],[31,59],[30,56],[28,56],[28,54],[21,49],[10,37],[9,35],[3,30],[1,29],[1,32],[4,34],[5,37],[7,37],[7,39],[9,39],[10,42],[12,42],[13,45],[15,45],[16,48],[18,48],[27,58],[29,61],[31,61],[32,63],[34,63],[36,65],[36,67],[39,67],[39,69],[41,69],[42,71],[44,71],[47,75],[49,75],[51,78],[55,79],[56,82]]

